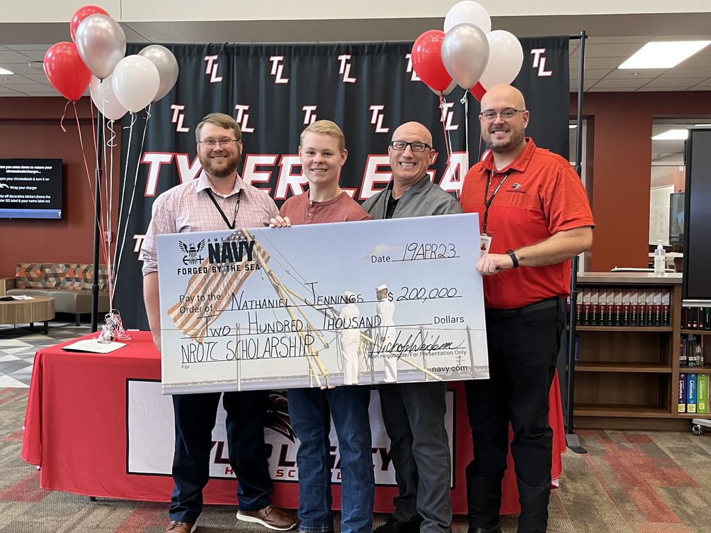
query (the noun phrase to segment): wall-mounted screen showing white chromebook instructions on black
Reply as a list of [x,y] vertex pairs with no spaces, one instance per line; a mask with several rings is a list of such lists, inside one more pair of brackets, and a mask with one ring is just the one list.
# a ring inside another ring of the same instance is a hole
[[0,218],[61,217],[61,159],[0,159]]

